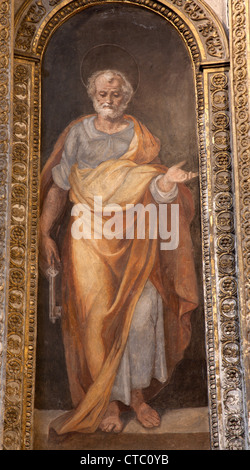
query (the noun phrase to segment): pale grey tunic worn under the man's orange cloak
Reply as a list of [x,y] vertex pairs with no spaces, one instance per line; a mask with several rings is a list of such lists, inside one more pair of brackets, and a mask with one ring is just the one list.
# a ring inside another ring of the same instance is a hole
[[[62,189],[70,189],[68,177],[73,164],[77,163],[79,168],[96,168],[105,160],[120,158],[129,148],[134,136],[132,121],[128,121],[126,129],[106,134],[95,128],[94,119],[95,116],[77,123],[68,134],[61,162],[52,170],[54,182]],[[157,186],[158,178],[154,178],[150,184],[155,201],[172,202],[177,196],[177,187],[163,193]],[[164,383],[167,380],[167,368],[162,299],[148,280],[134,311],[110,400],[129,405],[131,390],[148,387],[153,377]]]

